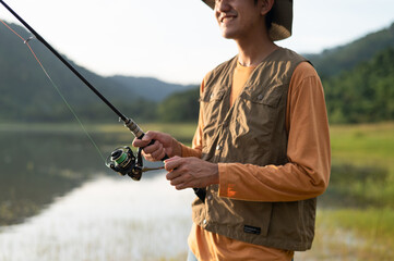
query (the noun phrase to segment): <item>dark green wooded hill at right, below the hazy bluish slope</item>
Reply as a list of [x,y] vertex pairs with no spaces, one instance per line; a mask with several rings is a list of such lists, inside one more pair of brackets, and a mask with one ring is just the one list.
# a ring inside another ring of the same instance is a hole
[[394,48],[323,80],[332,123],[394,120]]

